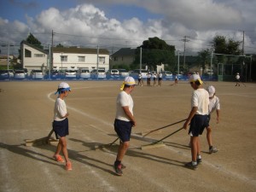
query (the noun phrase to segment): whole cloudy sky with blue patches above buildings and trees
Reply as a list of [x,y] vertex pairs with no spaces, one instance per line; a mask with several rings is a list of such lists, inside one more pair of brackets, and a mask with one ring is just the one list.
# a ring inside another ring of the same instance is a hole
[[158,37],[183,52],[211,48],[216,35],[242,41],[247,54],[256,53],[255,0],[1,0],[0,49],[17,55],[31,32],[54,44],[136,48]]

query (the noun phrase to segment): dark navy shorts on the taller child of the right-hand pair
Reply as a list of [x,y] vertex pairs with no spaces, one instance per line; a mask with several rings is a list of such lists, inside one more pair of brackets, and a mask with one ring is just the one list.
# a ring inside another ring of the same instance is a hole
[[209,126],[208,115],[195,114],[190,122],[189,135],[198,137],[203,133],[207,126]]

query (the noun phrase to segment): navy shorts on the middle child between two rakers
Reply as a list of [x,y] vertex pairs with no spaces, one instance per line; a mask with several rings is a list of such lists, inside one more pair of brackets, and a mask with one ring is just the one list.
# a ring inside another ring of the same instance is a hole
[[122,143],[130,141],[132,127],[131,121],[114,119],[113,127]]

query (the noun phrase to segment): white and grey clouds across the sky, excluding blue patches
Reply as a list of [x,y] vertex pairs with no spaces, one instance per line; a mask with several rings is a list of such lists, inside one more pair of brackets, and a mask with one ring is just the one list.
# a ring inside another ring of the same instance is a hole
[[[97,3],[100,2],[97,1]],[[104,3],[108,2],[104,0]],[[110,2],[122,3],[117,0]],[[56,8],[43,10],[36,17],[27,16],[26,24],[17,20],[9,22],[0,18],[0,26],[6,32],[22,32],[23,35],[20,37],[11,37],[19,43],[27,37],[28,32],[32,32],[42,43],[49,44],[53,30],[55,44],[88,47],[96,47],[97,44],[100,44],[106,48],[111,46],[136,47],[141,45],[143,40],[159,37],[166,39],[168,44],[175,45],[177,49],[183,50],[181,39],[184,36],[189,36],[188,49],[195,49],[197,52],[200,49],[208,48],[209,42],[217,34],[241,39],[241,32],[238,30],[241,30],[242,26],[249,27],[244,21],[253,15],[251,20],[256,18],[253,8],[249,7],[248,3],[241,4],[238,0],[225,0],[220,3],[218,0],[161,0],[160,2],[134,0],[125,1],[125,3],[136,4],[154,14],[163,15],[163,17],[146,21],[132,17],[120,21],[108,18],[102,9],[84,3],[64,11]],[[249,11],[239,9],[238,5]],[[247,21],[247,23],[250,22]],[[245,42],[253,46],[256,32],[255,28],[251,28],[252,33],[250,36],[246,34]],[[2,39],[4,38],[2,37]]]

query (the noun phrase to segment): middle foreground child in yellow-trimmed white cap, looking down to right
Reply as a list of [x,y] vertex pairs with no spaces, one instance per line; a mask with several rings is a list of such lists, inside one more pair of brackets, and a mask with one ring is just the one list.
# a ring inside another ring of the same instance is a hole
[[134,90],[135,84],[135,80],[132,77],[126,77],[120,89],[122,91],[119,92],[116,100],[116,115],[113,125],[120,143],[113,168],[119,176],[123,175],[122,169],[125,168],[122,160],[130,145],[131,128],[136,126],[136,120],[133,115],[133,100],[131,98],[131,92]]

